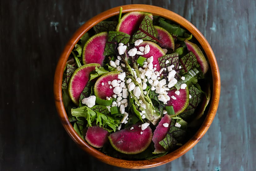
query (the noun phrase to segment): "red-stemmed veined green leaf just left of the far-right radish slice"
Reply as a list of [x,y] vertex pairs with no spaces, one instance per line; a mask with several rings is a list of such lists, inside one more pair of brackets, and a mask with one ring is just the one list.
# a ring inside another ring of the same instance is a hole
[[185,56],[183,56],[180,59],[181,69],[180,74],[184,75],[186,72],[191,70],[194,67],[199,67],[199,64],[197,63],[196,57],[194,53],[189,52]]

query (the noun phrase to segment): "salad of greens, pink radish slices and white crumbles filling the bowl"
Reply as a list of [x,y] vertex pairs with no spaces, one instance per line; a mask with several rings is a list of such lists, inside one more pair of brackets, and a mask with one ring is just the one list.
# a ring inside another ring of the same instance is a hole
[[209,65],[187,30],[129,12],[83,35],[63,75],[74,130],[102,153],[142,160],[182,146],[209,103]]

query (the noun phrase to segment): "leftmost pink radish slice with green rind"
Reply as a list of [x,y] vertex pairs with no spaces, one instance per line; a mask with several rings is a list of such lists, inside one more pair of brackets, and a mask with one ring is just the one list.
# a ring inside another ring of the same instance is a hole
[[100,67],[100,64],[91,63],[77,68],[72,74],[69,81],[69,95],[74,104],[79,105],[80,95],[89,80],[89,74],[95,71],[95,67]]

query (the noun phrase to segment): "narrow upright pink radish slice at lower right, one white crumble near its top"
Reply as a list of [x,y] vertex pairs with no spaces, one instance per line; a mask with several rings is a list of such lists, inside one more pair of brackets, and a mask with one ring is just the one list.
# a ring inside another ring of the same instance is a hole
[[164,117],[160,120],[158,125],[155,128],[152,141],[154,142],[155,151],[154,154],[164,153],[166,150],[163,146],[159,144],[160,141],[162,141],[167,133],[170,130],[170,124],[171,124],[172,118],[171,115],[165,114]]

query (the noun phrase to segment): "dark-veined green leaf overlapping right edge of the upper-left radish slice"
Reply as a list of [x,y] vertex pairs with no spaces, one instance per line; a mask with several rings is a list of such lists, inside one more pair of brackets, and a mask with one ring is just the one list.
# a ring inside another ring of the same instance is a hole
[[128,44],[130,35],[120,31],[109,31],[104,55],[116,54],[116,46],[119,43]]

